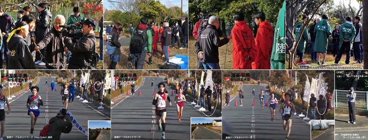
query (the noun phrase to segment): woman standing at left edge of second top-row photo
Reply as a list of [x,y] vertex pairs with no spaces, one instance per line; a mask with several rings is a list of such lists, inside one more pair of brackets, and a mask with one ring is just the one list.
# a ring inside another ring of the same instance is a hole
[[108,35],[107,45],[115,47],[115,50],[110,54],[110,67],[109,69],[116,69],[116,64],[120,62],[121,44],[120,44],[120,32],[123,30],[123,25],[116,22]]

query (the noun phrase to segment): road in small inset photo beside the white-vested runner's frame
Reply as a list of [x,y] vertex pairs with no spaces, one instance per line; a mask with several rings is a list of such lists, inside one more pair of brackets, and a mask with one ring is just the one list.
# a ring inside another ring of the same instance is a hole
[[197,131],[195,131],[193,140],[221,140],[221,134],[216,133],[205,127],[198,126]]

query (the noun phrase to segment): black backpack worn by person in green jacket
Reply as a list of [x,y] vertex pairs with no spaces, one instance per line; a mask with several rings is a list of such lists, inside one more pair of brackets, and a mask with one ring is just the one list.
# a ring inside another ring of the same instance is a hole
[[131,37],[131,54],[140,54],[143,52],[148,39],[147,30],[148,28],[139,30],[138,26],[136,27],[133,37]]

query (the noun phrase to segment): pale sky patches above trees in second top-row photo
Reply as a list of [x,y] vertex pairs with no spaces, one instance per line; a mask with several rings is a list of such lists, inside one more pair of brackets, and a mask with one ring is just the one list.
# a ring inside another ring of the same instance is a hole
[[[123,0],[110,0],[110,1],[123,1]],[[167,5],[179,6],[182,5],[182,0],[159,0],[163,5],[167,7]],[[111,10],[111,2],[104,0],[104,9]],[[183,0],[183,12],[188,12],[188,0]]]

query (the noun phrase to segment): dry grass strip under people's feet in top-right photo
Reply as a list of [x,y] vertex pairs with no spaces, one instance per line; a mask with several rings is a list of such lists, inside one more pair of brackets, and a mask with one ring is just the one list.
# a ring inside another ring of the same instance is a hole
[[[313,69],[363,69],[363,64],[354,64],[356,61],[351,58],[350,64],[345,64],[346,55],[342,55],[339,65],[335,66],[335,57],[331,54],[327,54],[325,58],[326,65],[317,65],[317,62],[313,62],[310,54],[304,54],[303,61],[310,64],[310,68]],[[322,57],[319,60],[322,63]]]

